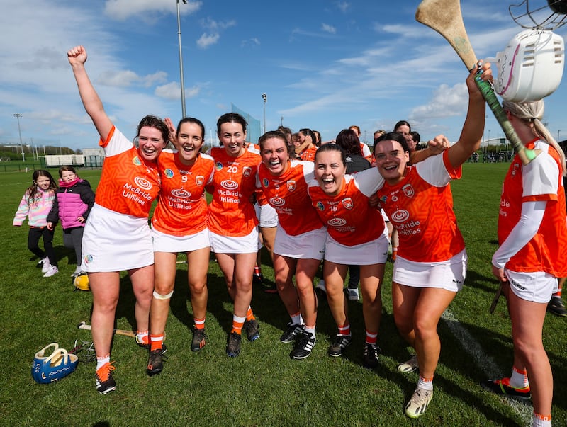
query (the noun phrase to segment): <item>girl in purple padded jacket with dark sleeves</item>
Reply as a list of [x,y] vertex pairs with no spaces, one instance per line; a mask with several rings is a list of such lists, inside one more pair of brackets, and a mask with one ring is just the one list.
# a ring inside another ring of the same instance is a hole
[[94,191],[89,181],[85,181],[73,166],[59,169],[59,189],[55,192],[55,201],[47,215],[47,228],[55,229],[58,220],[63,227],[63,244],[74,249],[77,255],[77,268],[72,276],[82,273],[82,240],[86,218],[94,205]]

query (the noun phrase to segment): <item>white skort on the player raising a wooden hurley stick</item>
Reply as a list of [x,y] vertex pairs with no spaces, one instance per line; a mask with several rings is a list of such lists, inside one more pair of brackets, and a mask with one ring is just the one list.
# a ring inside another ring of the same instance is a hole
[[447,261],[437,263],[418,263],[395,258],[392,281],[412,287],[437,287],[459,292],[466,276],[466,250],[463,249]]

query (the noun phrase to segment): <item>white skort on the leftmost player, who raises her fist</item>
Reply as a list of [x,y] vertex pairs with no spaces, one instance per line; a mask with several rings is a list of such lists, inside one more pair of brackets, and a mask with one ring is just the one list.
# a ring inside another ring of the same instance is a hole
[[89,273],[123,271],[154,263],[147,218],[125,215],[94,204],[86,222],[82,268]]

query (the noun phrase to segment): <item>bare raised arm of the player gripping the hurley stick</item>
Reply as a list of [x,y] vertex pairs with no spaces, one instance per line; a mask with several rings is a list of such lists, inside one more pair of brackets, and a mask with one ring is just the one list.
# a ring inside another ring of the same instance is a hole
[[[492,80],[492,71],[490,63],[482,65],[481,79],[487,81]],[[481,91],[476,86],[474,78],[476,76],[477,67],[475,66],[466,79],[466,87],[468,88],[468,110],[466,119],[461,130],[459,141],[449,148],[449,161],[453,167],[459,167],[481,147],[481,140],[484,132],[484,118],[486,112],[486,102]]]

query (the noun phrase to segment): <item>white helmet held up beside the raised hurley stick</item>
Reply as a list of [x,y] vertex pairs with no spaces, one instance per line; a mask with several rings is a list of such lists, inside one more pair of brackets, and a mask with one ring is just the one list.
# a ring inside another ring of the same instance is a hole
[[529,29],[515,35],[498,52],[494,89],[505,101],[530,102],[551,95],[561,83],[563,38],[548,30]]

